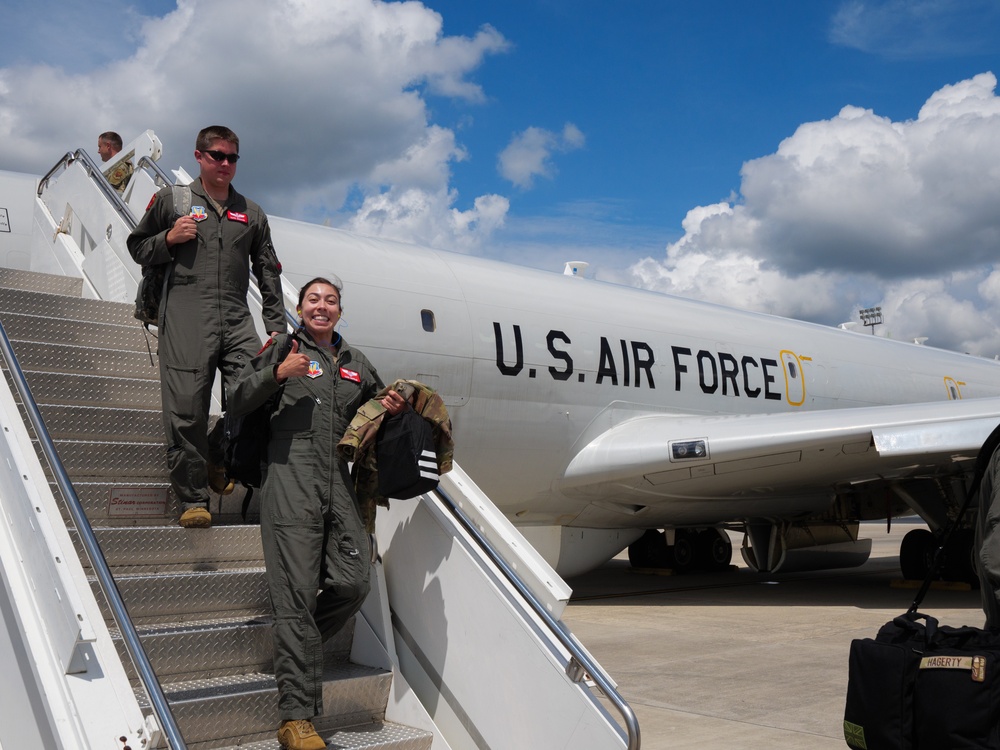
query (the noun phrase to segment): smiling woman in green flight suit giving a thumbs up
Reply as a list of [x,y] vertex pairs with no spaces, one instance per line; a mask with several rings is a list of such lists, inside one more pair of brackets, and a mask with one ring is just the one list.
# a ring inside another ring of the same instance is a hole
[[[272,338],[228,399],[239,415],[283,389],[271,417],[260,497],[278,740],[291,750],[326,747],[311,722],[323,713],[323,641],[358,611],[369,589],[368,535],[336,447],[358,407],[383,384],[368,358],[335,330],[340,297],[339,279],[316,278],[302,287],[301,326],[291,334],[288,356],[279,361],[286,342]],[[391,414],[407,406],[395,391],[382,405]]]

